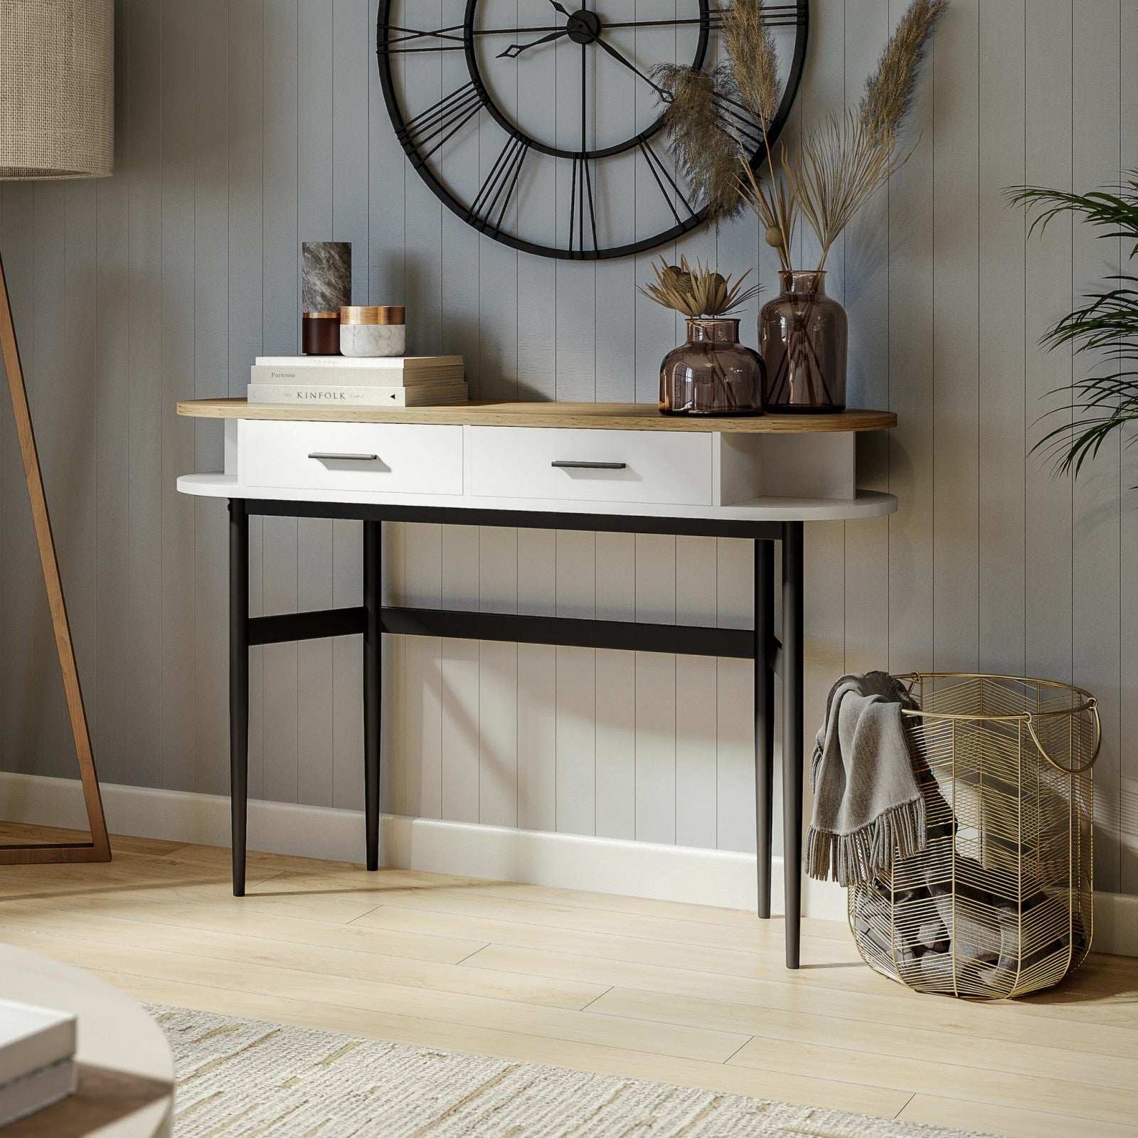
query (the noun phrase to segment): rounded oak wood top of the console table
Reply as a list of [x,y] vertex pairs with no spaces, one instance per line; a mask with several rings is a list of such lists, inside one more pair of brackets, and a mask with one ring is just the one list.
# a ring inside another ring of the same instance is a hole
[[245,399],[182,399],[180,415],[198,419],[297,419],[308,422],[444,423],[478,427],[572,427],[594,430],[823,434],[889,430],[891,411],[840,414],[663,415],[651,403],[495,403],[477,399],[445,407],[316,407]]

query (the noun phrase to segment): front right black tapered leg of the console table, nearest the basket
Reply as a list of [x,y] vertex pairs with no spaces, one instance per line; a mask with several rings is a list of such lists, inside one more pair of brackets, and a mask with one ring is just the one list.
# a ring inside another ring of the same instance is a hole
[[783,882],[786,967],[799,963],[802,913],[802,522],[783,525]]

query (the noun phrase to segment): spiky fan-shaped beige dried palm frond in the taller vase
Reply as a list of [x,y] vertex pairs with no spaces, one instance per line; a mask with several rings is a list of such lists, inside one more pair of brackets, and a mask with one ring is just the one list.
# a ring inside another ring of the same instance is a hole
[[892,134],[875,131],[856,112],[811,131],[785,159],[791,193],[822,246],[819,272],[853,214],[906,160]]

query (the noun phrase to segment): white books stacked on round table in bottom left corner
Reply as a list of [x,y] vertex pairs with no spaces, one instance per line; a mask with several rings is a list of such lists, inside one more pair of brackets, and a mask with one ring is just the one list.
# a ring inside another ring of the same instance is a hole
[[75,1016],[0,1000],[0,1127],[75,1092]]

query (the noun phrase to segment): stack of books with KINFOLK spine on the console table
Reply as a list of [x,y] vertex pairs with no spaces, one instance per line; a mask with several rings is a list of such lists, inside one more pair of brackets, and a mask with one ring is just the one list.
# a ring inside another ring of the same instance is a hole
[[469,398],[462,356],[257,356],[249,403],[429,407]]

